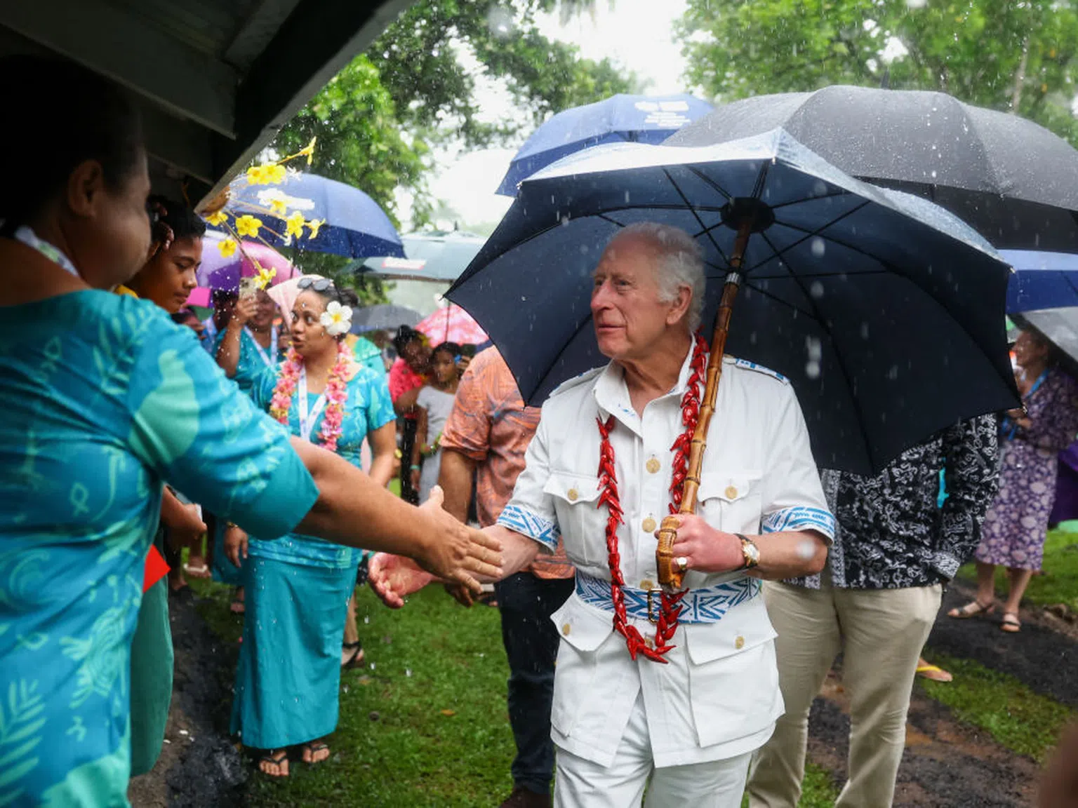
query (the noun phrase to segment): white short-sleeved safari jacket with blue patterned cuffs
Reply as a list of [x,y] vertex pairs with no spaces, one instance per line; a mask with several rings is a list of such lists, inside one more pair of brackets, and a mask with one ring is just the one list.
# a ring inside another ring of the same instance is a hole
[[[686,357],[676,387],[637,416],[614,364],[566,382],[543,405],[524,472],[498,523],[553,551],[561,535],[584,576],[610,581],[607,509],[598,506],[596,419],[612,415],[619,530],[626,586],[653,588],[653,531],[668,513],[671,447],[683,430]],[[789,382],[750,362],[723,360],[718,402],[704,454],[697,509],[714,527],[755,534],[816,530],[828,539],[827,511],[804,418]],[[686,585],[710,587],[742,577],[690,571]],[[602,587],[599,587],[602,588]],[[758,591],[758,588],[754,589]],[[551,715],[554,742],[608,766],[642,691],[655,766],[733,757],[757,749],[783,712],[773,638],[763,599],[744,599],[716,622],[682,624],[663,665],[628,656],[612,612],[584,602],[580,589],[554,614],[562,636]],[[714,616],[714,615],[713,615]],[[634,624],[654,637],[647,619]]]

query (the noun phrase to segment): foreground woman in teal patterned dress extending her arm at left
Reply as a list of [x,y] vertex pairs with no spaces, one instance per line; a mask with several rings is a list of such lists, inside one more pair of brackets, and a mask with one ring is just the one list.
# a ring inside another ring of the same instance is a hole
[[130,643],[165,482],[265,539],[404,552],[466,581],[498,554],[293,443],[190,329],[107,291],[150,246],[126,94],[11,56],[0,97],[20,112],[0,127],[0,805],[126,806]]

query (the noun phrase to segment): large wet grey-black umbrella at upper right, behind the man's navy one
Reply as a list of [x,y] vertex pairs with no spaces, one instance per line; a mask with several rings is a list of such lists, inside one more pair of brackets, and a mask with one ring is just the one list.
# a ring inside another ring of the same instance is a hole
[[943,93],[832,86],[718,107],[666,141],[776,127],[843,171],[931,199],[999,249],[1078,252],[1078,151],[1032,121]]

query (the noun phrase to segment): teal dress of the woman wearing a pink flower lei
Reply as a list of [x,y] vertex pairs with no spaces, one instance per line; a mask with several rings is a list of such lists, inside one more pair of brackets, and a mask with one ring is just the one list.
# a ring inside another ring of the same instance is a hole
[[[260,407],[270,409],[276,384],[274,372],[260,377],[254,389]],[[288,413],[293,435],[300,434],[298,400],[299,391]],[[316,443],[322,415],[310,431]],[[357,366],[337,455],[359,468],[363,438],[396,418],[385,375]],[[324,737],[336,728],[345,612],[362,552],[292,533],[275,542],[251,541],[248,553],[232,732],[254,749]]]

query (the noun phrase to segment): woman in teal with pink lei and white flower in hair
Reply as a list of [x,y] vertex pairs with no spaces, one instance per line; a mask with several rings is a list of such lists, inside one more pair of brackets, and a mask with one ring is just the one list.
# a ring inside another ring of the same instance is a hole
[[[332,448],[357,469],[367,438],[374,454],[371,478],[385,486],[397,416],[385,374],[356,363],[344,343],[356,295],[324,278],[303,278],[300,290],[292,350],[280,368],[257,381],[255,404],[300,440]],[[248,543],[232,529],[225,541],[231,558],[249,556],[232,732],[245,746],[266,750],[262,771],[285,777],[288,747],[301,747],[307,763],[329,757],[324,738],[337,723],[345,610],[361,553],[300,533]]]

